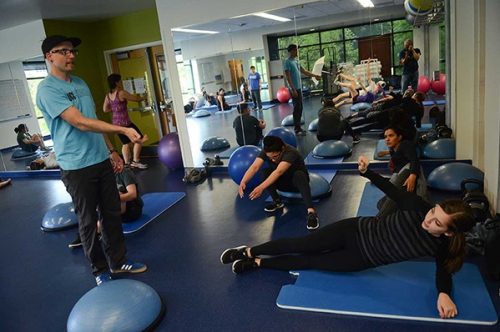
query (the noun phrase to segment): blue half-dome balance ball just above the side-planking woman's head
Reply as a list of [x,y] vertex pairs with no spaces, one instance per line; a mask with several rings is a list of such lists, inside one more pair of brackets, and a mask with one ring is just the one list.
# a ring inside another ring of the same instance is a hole
[[460,191],[460,185],[465,179],[483,181],[484,173],[476,167],[465,163],[449,163],[434,169],[427,178],[427,185],[431,188]]

